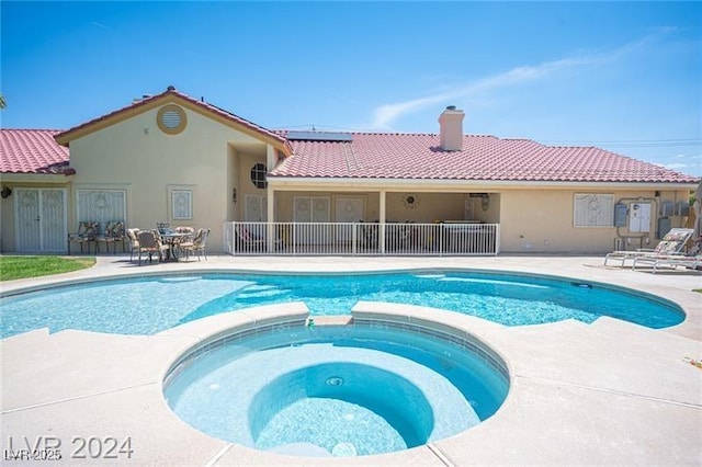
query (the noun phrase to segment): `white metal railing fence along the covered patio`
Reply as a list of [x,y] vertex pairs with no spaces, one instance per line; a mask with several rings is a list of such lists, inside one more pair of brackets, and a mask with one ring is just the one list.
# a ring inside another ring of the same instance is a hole
[[499,253],[499,224],[455,221],[224,225],[224,251],[234,255],[488,255]]

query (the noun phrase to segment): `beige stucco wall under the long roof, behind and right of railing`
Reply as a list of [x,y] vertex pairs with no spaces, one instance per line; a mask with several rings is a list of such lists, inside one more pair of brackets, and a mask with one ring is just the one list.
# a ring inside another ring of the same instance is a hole
[[[424,186],[426,190],[426,186]],[[437,220],[479,220],[487,224],[500,224],[500,251],[503,253],[607,253],[614,249],[618,232],[632,236],[630,249],[653,248],[657,219],[661,217],[664,202],[687,202],[687,190],[655,192],[653,190],[592,190],[582,189],[491,189],[486,192],[488,202],[483,197],[471,197],[468,193],[429,193],[429,192],[387,192],[386,220],[433,223]],[[614,201],[629,203],[642,200],[652,203],[652,221],[648,234],[632,234],[626,228],[615,227],[575,227],[574,200],[580,193],[612,194]],[[416,197],[416,205],[408,206],[407,195]],[[363,197],[365,216],[363,220],[378,219],[380,194],[377,192],[335,192],[329,191],[281,191],[275,192],[276,220],[292,221],[293,198],[295,196],[327,196],[330,198],[330,218],[335,219],[335,200],[337,197]],[[466,208],[466,203],[469,205]],[[669,216],[671,227],[686,227],[686,216]],[[642,239],[635,238],[642,236]]]

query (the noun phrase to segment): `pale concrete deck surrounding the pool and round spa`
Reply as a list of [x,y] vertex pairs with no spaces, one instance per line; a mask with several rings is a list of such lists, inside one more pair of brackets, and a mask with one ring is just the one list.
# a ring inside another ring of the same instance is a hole
[[[186,324],[188,332],[171,330],[149,337],[37,330],[0,341],[1,455],[9,462],[7,455],[27,445],[49,448],[50,454],[60,444],[61,462],[71,465],[700,465],[702,369],[686,358],[702,360],[702,295],[691,292],[702,288],[702,274],[660,271],[654,275],[648,270],[604,267],[602,261],[602,257],[531,255],[223,255],[139,267],[129,263],[128,255],[117,255],[99,257],[97,266],[88,271],[3,283],[7,293],[68,280],[174,271],[466,267],[631,287],[676,301],[688,318],[665,330],[611,318],[592,324],[568,320],[507,328],[442,312],[442,322],[478,337],[506,360],[511,388],[505,405],[492,418],[456,436],[401,453],[359,458],[290,457],[231,445],[190,428],[163,401],[162,377],[177,355],[212,333],[213,326],[224,329],[237,320],[260,320],[267,310],[220,315],[207,323]],[[285,312],[295,307],[278,308]],[[362,308],[407,312],[406,307],[387,304],[364,303]],[[412,312],[438,315],[430,309]],[[117,448],[107,453],[113,444]],[[98,447],[102,447],[99,453]],[[84,457],[77,457],[81,455]]]

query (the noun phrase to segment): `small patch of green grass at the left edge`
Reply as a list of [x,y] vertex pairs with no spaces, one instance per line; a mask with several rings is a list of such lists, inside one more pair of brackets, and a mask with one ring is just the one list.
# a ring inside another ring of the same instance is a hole
[[94,258],[0,257],[0,281],[61,274],[94,264]]

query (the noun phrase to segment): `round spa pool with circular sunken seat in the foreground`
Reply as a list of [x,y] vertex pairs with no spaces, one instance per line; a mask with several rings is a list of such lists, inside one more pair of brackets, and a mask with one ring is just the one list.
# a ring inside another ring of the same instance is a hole
[[464,346],[366,326],[276,329],[195,355],[166,378],[171,409],[215,437],[295,455],[445,438],[492,415],[509,389],[506,369]]

